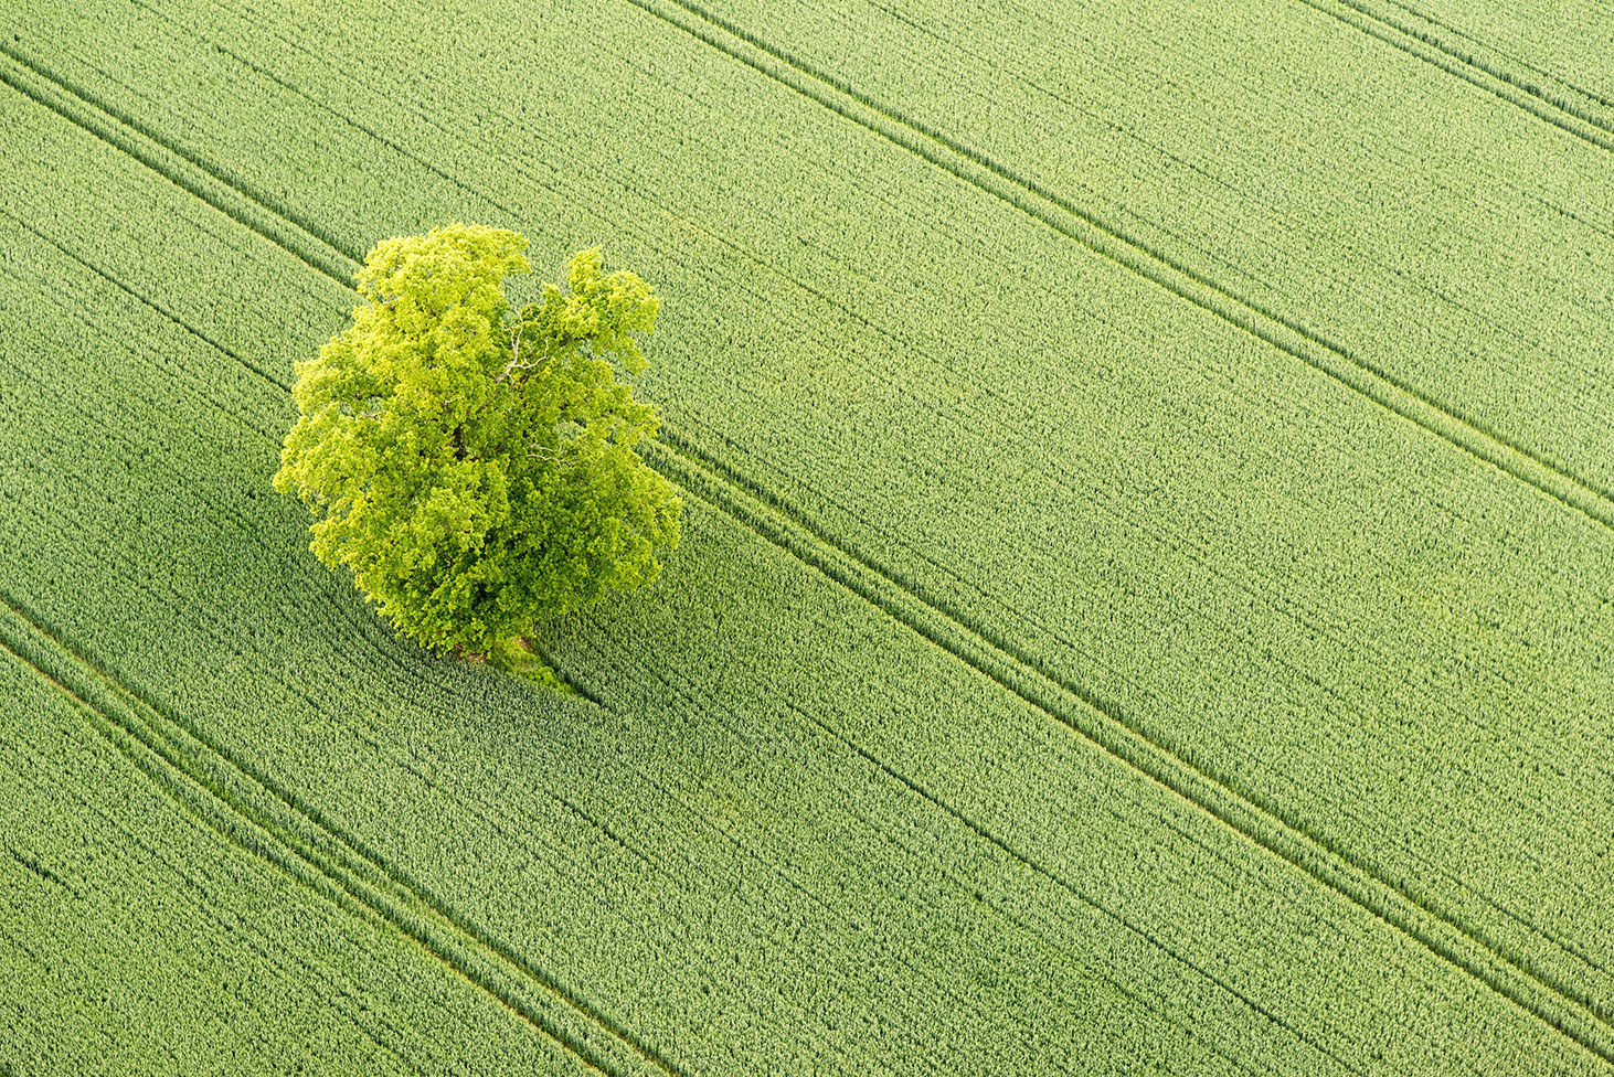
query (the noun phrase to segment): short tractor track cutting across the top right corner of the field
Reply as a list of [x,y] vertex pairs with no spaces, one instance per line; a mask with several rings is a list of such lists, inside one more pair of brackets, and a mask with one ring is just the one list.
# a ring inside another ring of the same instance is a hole
[[[1449,27],[1438,19],[1424,16],[1406,5],[1372,3],[1369,0],[1299,0],[1309,8],[1322,11],[1328,18],[1380,40],[1391,48],[1398,48],[1409,56],[1415,56],[1427,64],[1440,68],[1486,94],[1491,94],[1509,105],[1516,105],[1537,119],[1553,124],[1599,150],[1614,150],[1614,124],[1596,114],[1588,103],[1603,102],[1595,94],[1580,90],[1567,82],[1562,85],[1587,97],[1587,103],[1575,103],[1562,94],[1553,94],[1537,85],[1528,76],[1509,71],[1495,60],[1486,60],[1474,52],[1461,50],[1446,42],[1438,29],[1467,37],[1461,31]],[[1388,8],[1399,6],[1407,16],[1398,18]],[[1422,21],[1427,26],[1420,27]],[[1474,40],[1474,39],[1469,39]],[[1551,76],[1549,76],[1551,77]]]

